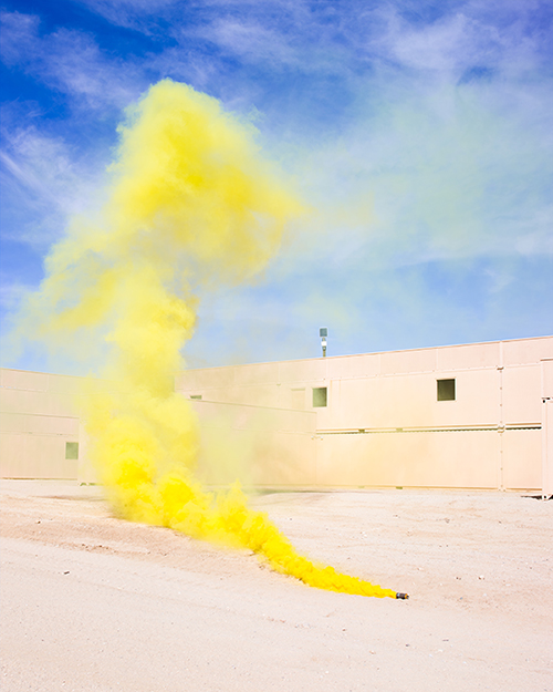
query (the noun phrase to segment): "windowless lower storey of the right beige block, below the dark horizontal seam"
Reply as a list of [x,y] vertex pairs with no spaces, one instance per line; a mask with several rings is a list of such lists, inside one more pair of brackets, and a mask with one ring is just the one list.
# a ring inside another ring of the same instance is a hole
[[316,485],[533,489],[540,430],[386,432],[317,436]]

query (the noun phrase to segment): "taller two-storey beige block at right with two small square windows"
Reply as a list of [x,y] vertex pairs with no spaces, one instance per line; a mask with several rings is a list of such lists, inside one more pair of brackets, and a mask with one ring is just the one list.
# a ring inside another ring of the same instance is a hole
[[[552,359],[543,337],[195,370],[176,389],[315,412],[310,485],[551,493]],[[438,380],[455,380],[455,399],[438,401]]]

